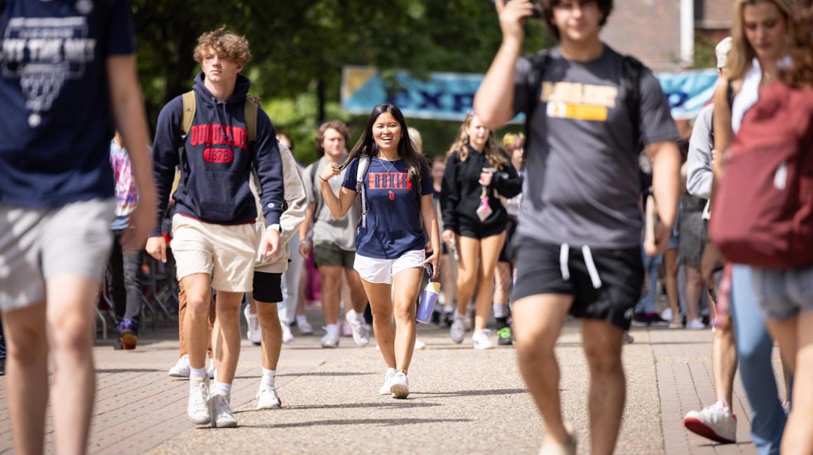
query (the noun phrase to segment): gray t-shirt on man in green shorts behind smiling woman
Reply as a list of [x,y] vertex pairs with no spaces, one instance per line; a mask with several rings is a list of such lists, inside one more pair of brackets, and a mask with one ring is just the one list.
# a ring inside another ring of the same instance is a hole
[[[342,162],[343,161],[344,159],[342,159]],[[347,212],[347,215],[341,219],[333,219],[333,215],[330,214],[330,210],[324,204],[320,186],[315,184],[314,180],[311,180],[311,175],[313,175],[312,167],[314,166],[316,166],[315,180],[319,178],[322,169],[328,166],[328,160],[322,157],[319,161],[311,163],[302,173],[302,180],[305,182],[307,202],[309,204],[315,203],[317,210],[317,213],[314,214],[313,241],[328,242],[337,245],[345,251],[355,251],[355,228],[356,223],[359,221],[359,216],[361,215],[358,197],[353,206],[350,207],[350,211]],[[346,171],[347,170],[341,171],[340,176],[333,177],[333,179],[329,181],[330,189],[333,190],[334,194],[339,193],[341,182],[345,180]]]

